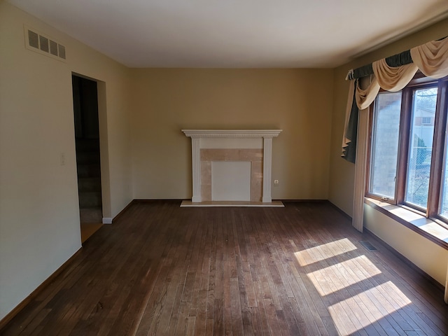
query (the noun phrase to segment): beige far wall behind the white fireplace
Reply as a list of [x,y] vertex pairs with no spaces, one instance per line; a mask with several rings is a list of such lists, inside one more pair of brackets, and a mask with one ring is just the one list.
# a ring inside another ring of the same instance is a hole
[[282,129],[275,199],[327,199],[330,69],[132,69],[134,198],[188,199],[191,140],[181,129]]

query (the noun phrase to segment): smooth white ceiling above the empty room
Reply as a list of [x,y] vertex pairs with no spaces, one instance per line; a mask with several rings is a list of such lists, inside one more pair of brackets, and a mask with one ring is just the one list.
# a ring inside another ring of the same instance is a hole
[[333,67],[448,17],[447,0],[8,2],[131,67]]

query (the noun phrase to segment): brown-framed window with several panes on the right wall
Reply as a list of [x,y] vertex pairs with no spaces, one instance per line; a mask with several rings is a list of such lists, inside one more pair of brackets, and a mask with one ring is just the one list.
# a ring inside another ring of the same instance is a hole
[[448,79],[416,75],[380,92],[370,113],[366,195],[405,205],[448,227]]

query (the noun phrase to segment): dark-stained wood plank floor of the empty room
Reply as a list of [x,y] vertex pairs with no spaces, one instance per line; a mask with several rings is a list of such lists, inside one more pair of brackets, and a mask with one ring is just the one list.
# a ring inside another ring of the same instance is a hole
[[103,225],[1,335],[448,335],[442,290],[326,202],[179,205]]

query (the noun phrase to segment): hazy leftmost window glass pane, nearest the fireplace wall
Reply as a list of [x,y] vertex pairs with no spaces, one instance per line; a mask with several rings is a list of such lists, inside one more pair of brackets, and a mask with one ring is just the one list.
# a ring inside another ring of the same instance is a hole
[[375,102],[369,192],[395,198],[401,92],[380,93]]

